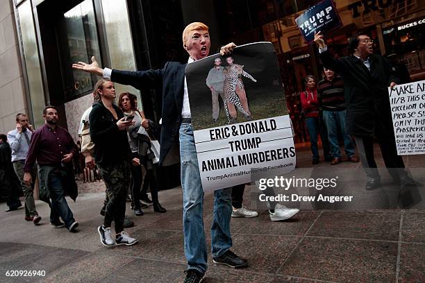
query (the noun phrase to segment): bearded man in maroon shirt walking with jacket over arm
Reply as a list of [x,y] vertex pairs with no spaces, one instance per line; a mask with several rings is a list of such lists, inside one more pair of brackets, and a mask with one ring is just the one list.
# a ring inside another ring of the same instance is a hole
[[68,206],[65,192],[76,200],[78,187],[72,171],[72,158],[78,153],[78,148],[69,132],[58,126],[59,116],[55,106],[44,108],[43,119],[44,126],[31,136],[24,165],[24,183],[29,186],[33,182],[31,171],[37,160],[40,200],[49,203],[51,225],[53,228],[66,227],[69,232],[76,232],[78,222]]

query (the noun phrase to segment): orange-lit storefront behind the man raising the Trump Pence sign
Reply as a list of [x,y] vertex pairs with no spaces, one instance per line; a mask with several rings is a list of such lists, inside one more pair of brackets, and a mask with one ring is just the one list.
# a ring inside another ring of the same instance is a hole
[[[269,22],[261,26],[264,40],[272,42],[278,53],[296,141],[308,141],[299,103],[303,78],[323,76],[317,46],[306,44],[295,24],[312,2],[319,1],[265,1],[263,13]],[[335,6],[343,26],[326,34],[326,44],[335,56],[348,55],[351,35],[366,33],[374,40],[374,52],[406,65],[412,81],[425,79],[425,0],[338,0]]]

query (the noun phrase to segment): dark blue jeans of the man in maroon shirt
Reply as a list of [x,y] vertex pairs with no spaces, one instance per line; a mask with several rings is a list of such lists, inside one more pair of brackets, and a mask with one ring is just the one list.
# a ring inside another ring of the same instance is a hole
[[50,222],[58,223],[59,216],[65,222],[65,227],[69,229],[75,222],[74,215],[69,209],[67,200],[65,200],[65,192],[62,187],[62,175],[60,172],[51,172],[49,174],[49,193],[51,198],[50,206]]

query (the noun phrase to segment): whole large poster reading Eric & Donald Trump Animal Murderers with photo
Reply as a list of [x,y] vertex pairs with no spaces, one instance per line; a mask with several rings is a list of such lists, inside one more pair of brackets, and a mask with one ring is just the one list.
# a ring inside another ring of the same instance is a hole
[[295,166],[292,126],[270,42],[235,48],[185,69],[203,190],[270,178]]

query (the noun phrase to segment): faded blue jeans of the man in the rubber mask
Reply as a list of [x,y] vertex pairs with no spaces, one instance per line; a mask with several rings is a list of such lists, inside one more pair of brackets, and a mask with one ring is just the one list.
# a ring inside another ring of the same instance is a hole
[[[203,190],[192,125],[180,127],[181,187],[183,188],[183,233],[188,268],[205,273],[207,248],[203,230]],[[219,257],[232,246],[230,221],[232,214],[232,189],[214,192],[213,225],[211,226],[211,253]]]

